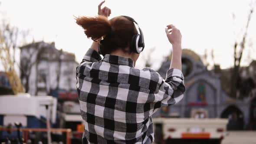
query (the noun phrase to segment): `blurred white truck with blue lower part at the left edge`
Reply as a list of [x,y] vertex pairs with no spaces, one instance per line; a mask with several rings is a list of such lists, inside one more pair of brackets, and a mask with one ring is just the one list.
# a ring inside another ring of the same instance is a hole
[[[6,128],[19,122],[22,128],[44,128],[56,122],[57,99],[52,96],[0,95],[0,128]],[[50,127],[50,126],[49,126]],[[0,131],[0,142],[20,138],[20,134],[8,134]],[[50,132],[47,131],[47,138]]]

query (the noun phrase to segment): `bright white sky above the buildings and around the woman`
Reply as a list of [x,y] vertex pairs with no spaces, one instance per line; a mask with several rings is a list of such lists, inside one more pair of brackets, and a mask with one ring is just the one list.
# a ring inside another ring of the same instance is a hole
[[[252,0],[106,0],[112,9],[110,18],[133,17],[144,33],[145,49],[137,67],[144,67],[150,49],[153,68],[158,69],[164,57],[171,52],[164,28],[174,24],[183,35],[183,48],[203,55],[205,49],[214,49],[215,61],[221,68],[233,65],[233,44],[246,25],[249,3]],[[79,62],[92,41],[87,39],[73,16],[96,16],[101,0],[0,0],[0,11],[10,23],[21,30],[30,29],[36,41],[55,41],[58,49],[75,53]],[[236,19],[233,20],[233,14]],[[243,64],[248,54],[256,59],[256,13],[249,26]],[[254,34],[254,36],[253,36]],[[30,39],[31,40],[31,39]],[[252,48],[254,46],[254,49]],[[249,50],[250,49],[250,50]],[[210,61],[210,59],[209,59]]]

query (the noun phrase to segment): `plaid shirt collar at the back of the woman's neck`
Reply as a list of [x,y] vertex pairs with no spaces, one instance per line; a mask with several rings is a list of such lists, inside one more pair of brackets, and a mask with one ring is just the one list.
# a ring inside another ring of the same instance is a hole
[[118,65],[128,65],[130,67],[134,67],[132,59],[122,57],[122,56],[106,54],[102,60],[105,62],[114,63],[114,64],[118,64]]

